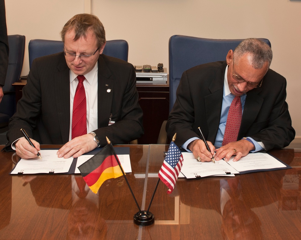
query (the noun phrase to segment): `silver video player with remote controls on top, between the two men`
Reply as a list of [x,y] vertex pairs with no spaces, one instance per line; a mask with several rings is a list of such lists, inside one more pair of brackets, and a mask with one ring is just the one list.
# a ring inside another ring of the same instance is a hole
[[135,66],[137,83],[142,84],[166,84],[167,71],[163,68],[163,63],[158,63],[156,66],[142,65]]

